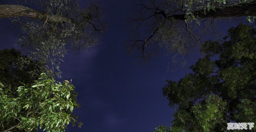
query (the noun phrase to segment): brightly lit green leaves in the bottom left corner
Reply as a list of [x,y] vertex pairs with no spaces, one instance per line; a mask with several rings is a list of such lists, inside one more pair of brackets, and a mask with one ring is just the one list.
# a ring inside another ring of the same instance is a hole
[[35,83],[21,84],[15,97],[10,87],[0,83],[0,118],[7,131],[15,128],[18,128],[16,131],[37,131],[39,126],[49,132],[59,132],[76,120],[68,113],[76,106],[69,98],[74,86],[68,81],[56,83],[43,73]]

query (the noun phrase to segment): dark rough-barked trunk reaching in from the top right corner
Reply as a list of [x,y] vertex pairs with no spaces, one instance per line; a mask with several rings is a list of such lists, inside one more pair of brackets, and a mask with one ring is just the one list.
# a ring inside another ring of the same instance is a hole
[[[191,13],[199,19],[202,18],[223,18],[223,17],[241,17],[241,16],[256,16],[256,0],[250,2],[239,3],[236,5],[230,5],[226,7],[215,8],[215,10],[198,10]],[[185,20],[187,19],[185,14],[174,14],[167,16],[167,18]]]

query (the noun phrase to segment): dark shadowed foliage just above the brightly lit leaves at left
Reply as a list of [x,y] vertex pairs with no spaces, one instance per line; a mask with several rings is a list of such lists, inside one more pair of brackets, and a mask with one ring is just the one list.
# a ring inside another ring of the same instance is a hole
[[9,87],[17,88],[20,82],[34,83],[41,73],[46,72],[44,66],[43,61],[33,61],[14,48],[0,50],[0,82]]

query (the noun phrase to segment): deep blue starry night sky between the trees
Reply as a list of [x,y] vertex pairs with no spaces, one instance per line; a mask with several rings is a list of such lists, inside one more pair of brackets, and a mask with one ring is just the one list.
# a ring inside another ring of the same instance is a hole
[[[11,4],[0,0],[0,4]],[[75,54],[69,51],[60,65],[63,80],[72,79],[82,105],[74,113],[82,128],[68,126],[68,132],[153,132],[158,125],[170,126],[174,108],[162,94],[165,80],[179,81],[200,58],[198,50],[187,57],[184,68],[168,72],[171,57],[160,54],[147,65],[126,53],[127,19],[133,0],[101,0],[108,28],[100,36],[100,45]],[[83,1],[81,5],[88,4]],[[0,19],[0,50],[15,47],[19,30],[10,19]],[[229,26],[230,27],[230,26]],[[226,33],[228,26],[222,28]],[[222,36],[223,37],[223,36]],[[170,68],[175,66],[170,66]],[[176,67],[177,68],[177,67]]]

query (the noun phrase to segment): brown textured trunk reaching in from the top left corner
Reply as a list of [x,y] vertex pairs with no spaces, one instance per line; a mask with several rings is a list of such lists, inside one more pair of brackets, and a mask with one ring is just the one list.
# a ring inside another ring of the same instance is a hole
[[[34,9],[25,7],[23,5],[7,5],[0,4],[0,18],[10,17],[29,17],[38,20],[46,20],[46,14],[36,11]],[[76,23],[74,19],[65,16],[47,14],[47,21],[61,23],[61,22],[72,22]]]

